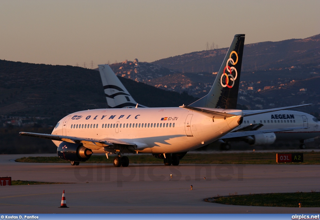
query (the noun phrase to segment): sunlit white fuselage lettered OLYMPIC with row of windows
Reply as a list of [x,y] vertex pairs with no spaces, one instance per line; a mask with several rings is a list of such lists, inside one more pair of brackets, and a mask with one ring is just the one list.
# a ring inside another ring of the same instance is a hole
[[[212,143],[238,126],[241,110],[213,109],[236,116],[214,119],[182,108],[96,109],[72,113],[52,134],[134,143],[133,152],[177,153]],[[59,146],[58,141],[53,141]],[[94,153],[106,153],[102,148]],[[114,153],[113,151],[109,151]]]

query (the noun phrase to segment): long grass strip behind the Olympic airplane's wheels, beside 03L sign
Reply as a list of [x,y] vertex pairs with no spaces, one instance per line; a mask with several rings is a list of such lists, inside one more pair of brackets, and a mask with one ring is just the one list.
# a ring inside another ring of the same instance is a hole
[[[294,151],[292,151],[294,152]],[[163,160],[156,159],[151,154],[140,154],[128,156],[132,164],[162,164]],[[320,152],[304,152],[301,164],[320,164]],[[23,157],[15,160],[26,163],[70,163],[56,157]],[[113,157],[92,155],[89,160],[81,163],[112,163]],[[277,164],[276,153],[187,153],[180,164]],[[299,163],[287,163],[299,164]]]

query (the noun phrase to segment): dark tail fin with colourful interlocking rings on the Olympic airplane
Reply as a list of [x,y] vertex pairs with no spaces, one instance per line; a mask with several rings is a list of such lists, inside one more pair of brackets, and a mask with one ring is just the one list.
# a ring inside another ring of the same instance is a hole
[[189,106],[236,109],[244,36],[244,34],[235,35],[210,92]]

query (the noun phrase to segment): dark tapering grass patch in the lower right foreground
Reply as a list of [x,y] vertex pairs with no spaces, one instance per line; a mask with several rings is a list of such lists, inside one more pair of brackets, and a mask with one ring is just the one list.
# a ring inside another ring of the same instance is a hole
[[[205,201],[237,206],[320,207],[320,192],[265,193],[212,197]],[[213,200],[214,199],[214,200]]]

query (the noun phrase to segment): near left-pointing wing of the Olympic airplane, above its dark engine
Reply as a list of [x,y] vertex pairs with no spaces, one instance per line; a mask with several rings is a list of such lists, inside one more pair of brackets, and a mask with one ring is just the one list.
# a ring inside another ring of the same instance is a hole
[[29,133],[29,132],[20,132],[22,136],[38,137],[44,139],[50,139],[53,141],[65,141],[69,143],[82,143],[84,147],[91,150],[99,150],[102,147],[113,147],[114,144],[123,144],[128,146],[137,146],[134,143],[129,143],[116,138],[105,138],[105,139],[92,139],[92,138],[83,138],[83,137],[72,137],[64,135],[55,135],[55,134],[39,134],[39,133]]

